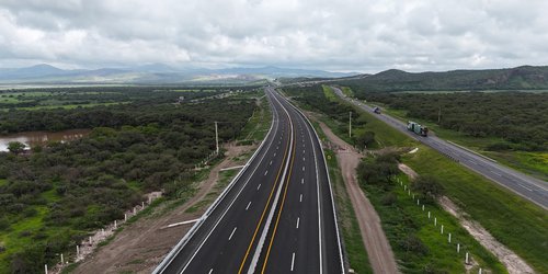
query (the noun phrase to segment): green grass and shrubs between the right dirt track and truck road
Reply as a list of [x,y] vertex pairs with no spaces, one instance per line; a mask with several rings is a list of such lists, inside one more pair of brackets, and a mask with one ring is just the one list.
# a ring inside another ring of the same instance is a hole
[[[300,102],[304,107],[326,114],[326,118],[331,119],[331,123],[326,124],[332,128],[333,133],[345,140],[350,139],[347,130],[341,126],[343,121],[332,118],[331,112],[338,107],[324,106],[334,102],[323,95],[324,90],[321,87],[292,88],[284,89],[284,91],[294,96],[294,100]],[[321,99],[322,95],[323,99]],[[342,101],[339,101],[338,104],[339,109],[353,109]],[[353,130],[356,132],[356,135],[366,130],[375,133],[376,145],[368,146],[368,148],[396,151],[419,148],[416,153],[402,155],[400,161],[410,165],[420,175],[436,180],[445,190],[444,193],[447,197],[463,208],[471,219],[481,224],[496,240],[522,256],[537,272],[548,271],[548,264],[545,260],[548,244],[548,214],[543,208],[467,170],[429,147],[420,145],[420,142],[376,119],[372,114],[357,109],[355,111],[359,113],[362,119],[361,124],[354,124],[356,128]],[[338,123],[341,124],[338,125]],[[369,162],[373,164],[377,159],[369,158],[367,161],[373,161]],[[433,273],[436,271],[463,272],[463,258],[457,259],[445,254],[449,247],[439,244],[439,241],[435,239],[438,238],[439,231],[427,232],[432,224],[429,222],[426,226],[423,216],[416,216],[416,205],[411,199],[408,201],[407,193],[399,190],[393,182],[395,178],[407,179],[399,174],[393,165],[392,168],[386,164],[381,165],[391,172],[390,176],[386,179],[390,183],[387,181],[379,184],[376,179],[365,180],[363,175],[361,183],[380,215],[387,237],[390,239],[392,249],[396,251],[400,265],[404,267],[404,272],[424,273],[426,269],[433,270]],[[436,214],[441,216],[439,218],[443,218],[444,222],[448,224],[447,226],[454,225],[455,227],[452,229],[460,235],[458,231],[463,231],[463,229],[457,225],[455,218],[443,213],[437,205],[432,204],[431,206],[432,212],[437,210]],[[404,237],[409,235],[415,238]],[[416,243],[418,247],[423,246],[425,249],[419,248],[416,252],[411,250],[413,254],[410,254],[409,250],[406,251],[410,246],[400,244],[401,239],[409,239],[411,243]],[[445,237],[444,239],[446,240]],[[467,248],[475,250],[471,254],[479,256],[477,261],[483,267],[487,266],[495,272],[501,271],[500,262],[494,260],[491,253],[484,251],[470,235],[463,231],[459,239],[467,242]],[[450,251],[452,254],[455,253],[453,248]],[[420,259],[416,260],[415,256],[420,256]]]

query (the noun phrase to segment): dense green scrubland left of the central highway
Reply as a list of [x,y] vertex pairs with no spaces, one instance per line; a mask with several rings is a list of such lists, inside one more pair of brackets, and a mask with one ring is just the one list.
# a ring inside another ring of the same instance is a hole
[[0,113],[3,133],[91,129],[70,142],[0,152],[0,273],[43,272],[88,232],[123,219],[145,193],[187,198],[203,175],[196,164],[215,151],[214,122],[220,141],[233,140],[258,109],[253,99],[210,98],[221,91],[87,89],[100,101],[132,103]]

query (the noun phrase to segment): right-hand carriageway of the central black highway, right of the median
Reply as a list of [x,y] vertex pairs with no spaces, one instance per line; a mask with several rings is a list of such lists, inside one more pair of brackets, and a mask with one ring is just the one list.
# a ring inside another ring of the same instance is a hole
[[276,93],[290,113],[296,153],[274,227],[258,252],[255,273],[344,272],[336,216],[321,145],[311,125]]

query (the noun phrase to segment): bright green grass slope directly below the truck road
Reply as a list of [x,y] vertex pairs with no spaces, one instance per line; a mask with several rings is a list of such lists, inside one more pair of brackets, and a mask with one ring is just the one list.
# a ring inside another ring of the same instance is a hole
[[[365,115],[365,127],[375,132],[383,147],[418,147],[416,153],[403,157],[404,163],[419,174],[436,178],[446,189],[446,195],[471,219],[481,224],[496,240],[516,252],[538,273],[548,273],[546,210],[420,145],[372,114],[358,111]],[[332,129],[339,136],[344,136],[336,127]]]

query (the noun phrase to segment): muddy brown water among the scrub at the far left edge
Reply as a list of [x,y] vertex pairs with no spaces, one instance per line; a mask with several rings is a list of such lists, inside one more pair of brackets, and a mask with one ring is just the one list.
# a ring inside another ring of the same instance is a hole
[[0,151],[8,151],[8,144],[20,141],[30,148],[35,145],[44,145],[48,141],[70,141],[82,138],[90,134],[90,129],[69,129],[57,133],[48,132],[26,132],[13,135],[0,136]]

